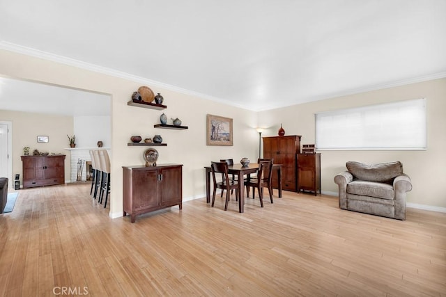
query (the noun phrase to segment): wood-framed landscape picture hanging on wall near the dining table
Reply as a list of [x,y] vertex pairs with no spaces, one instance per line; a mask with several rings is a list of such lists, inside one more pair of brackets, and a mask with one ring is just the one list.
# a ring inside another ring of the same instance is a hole
[[233,145],[232,119],[207,115],[206,145]]

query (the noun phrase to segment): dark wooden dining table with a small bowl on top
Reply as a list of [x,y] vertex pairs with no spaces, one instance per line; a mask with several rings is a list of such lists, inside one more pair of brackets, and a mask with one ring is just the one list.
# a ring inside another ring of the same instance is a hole
[[[245,194],[243,191],[243,177],[249,175],[251,173],[257,172],[259,170],[259,163],[249,163],[247,166],[243,166],[243,164],[233,164],[228,166],[228,173],[238,176],[238,211],[243,213],[245,211]],[[204,166],[206,170],[206,203],[210,202],[210,166]],[[279,191],[279,198],[282,198],[282,164],[272,164],[272,170],[276,171],[278,186],[277,189]],[[273,172],[274,173],[274,172]]]

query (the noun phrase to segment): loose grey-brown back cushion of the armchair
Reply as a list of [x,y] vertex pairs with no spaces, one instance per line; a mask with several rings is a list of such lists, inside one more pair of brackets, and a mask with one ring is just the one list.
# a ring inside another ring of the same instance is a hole
[[399,161],[371,165],[351,161],[346,163],[346,167],[355,179],[369,182],[391,183],[403,173],[403,164]]

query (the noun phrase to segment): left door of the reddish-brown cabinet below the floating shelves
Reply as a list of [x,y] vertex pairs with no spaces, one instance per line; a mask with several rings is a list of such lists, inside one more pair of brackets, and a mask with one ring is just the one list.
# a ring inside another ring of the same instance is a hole
[[132,179],[133,211],[160,206],[157,170],[134,170]]

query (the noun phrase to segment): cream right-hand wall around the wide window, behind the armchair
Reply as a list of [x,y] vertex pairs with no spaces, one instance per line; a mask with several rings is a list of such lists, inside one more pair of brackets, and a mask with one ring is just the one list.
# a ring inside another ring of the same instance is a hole
[[[318,151],[321,152],[322,191],[337,193],[333,177],[346,170],[347,161],[380,163],[401,161],[403,170],[413,182],[407,201],[436,207],[446,207],[446,79],[436,79],[406,86],[309,102],[283,109],[259,113],[259,125],[270,127],[264,134],[277,135],[280,118],[286,134],[302,135],[302,144],[314,143],[314,113],[380,104],[407,99],[426,98],[427,150],[425,151]],[[389,127],[392,129],[392,127]]]

